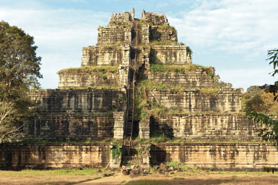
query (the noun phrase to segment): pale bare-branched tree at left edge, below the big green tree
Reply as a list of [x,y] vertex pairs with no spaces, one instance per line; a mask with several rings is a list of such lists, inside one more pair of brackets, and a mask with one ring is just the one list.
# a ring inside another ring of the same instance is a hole
[[19,141],[21,127],[15,126],[13,114],[15,113],[12,102],[0,101],[0,143]]

